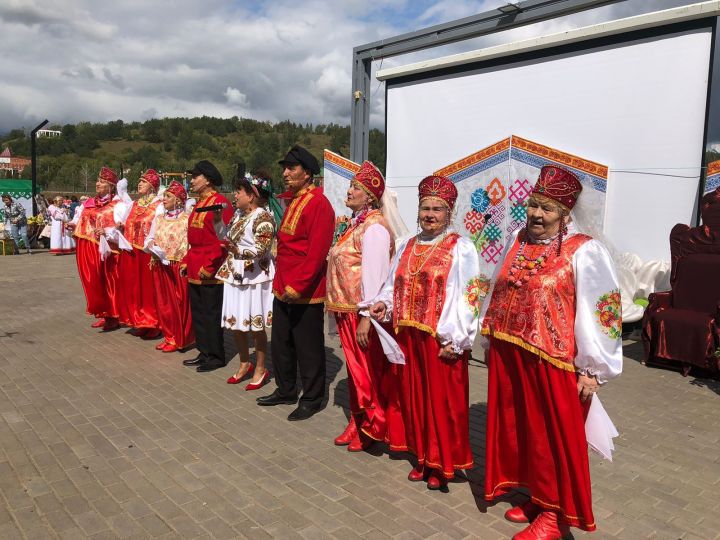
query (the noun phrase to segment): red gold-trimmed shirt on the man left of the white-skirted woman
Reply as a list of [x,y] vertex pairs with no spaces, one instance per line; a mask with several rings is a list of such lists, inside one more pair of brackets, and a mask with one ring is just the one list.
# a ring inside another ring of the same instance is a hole
[[215,230],[215,212],[197,212],[199,208],[225,203],[222,220],[227,225],[233,215],[233,207],[220,193],[212,193],[201,199],[188,217],[188,252],[183,258],[189,283],[195,285],[215,285],[221,283],[215,279],[220,265],[227,253]]

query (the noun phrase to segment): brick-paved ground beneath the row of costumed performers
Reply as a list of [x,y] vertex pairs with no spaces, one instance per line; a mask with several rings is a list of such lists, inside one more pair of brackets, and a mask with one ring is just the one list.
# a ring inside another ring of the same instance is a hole
[[[406,480],[382,449],[332,445],[347,381],[329,339],[329,402],[290,407],[198,374],[83,314],[74,257],[0,257],[0,538],[507,538],[482,467],[447,494]],[[230,340],[227,341],[230,343]],[[594,538],[718,538],[720,384],[648,369],[627,343],[602,391],[622,436],[591,457]],[[487,372],[470,369],[471,438],[483,463]],[[584,536],[577,533],[576,537]]]

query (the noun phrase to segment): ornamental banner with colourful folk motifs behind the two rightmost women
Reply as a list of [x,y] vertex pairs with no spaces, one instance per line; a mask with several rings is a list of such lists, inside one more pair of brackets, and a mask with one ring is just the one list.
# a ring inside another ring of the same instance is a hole
[[602,227],[608,167],[517,135],[435,172],[455,182],[455,230],[475,244],[481,279],[492,276],[508,238],[525,225],[525,201],[544,165],[559,165],[578,176],[583,197],[593,201],[589,217]]

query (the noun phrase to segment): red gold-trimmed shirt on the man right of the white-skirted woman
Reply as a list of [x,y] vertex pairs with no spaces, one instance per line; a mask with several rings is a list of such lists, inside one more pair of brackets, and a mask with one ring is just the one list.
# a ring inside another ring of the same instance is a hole
[[335,212],[322,188],[312,184],[280,197],[290,201],[277,234],[273,293],[278,298],[287,293],[297,303],[324,302]]

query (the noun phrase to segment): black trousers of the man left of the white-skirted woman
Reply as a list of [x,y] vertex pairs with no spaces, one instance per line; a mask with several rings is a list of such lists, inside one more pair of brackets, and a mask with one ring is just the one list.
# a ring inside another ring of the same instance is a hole
[[225,344],[222,318],[222,285],[196,285],[190,287],[190,315],[195,331],[195,345],[207,364],[225,365]]

